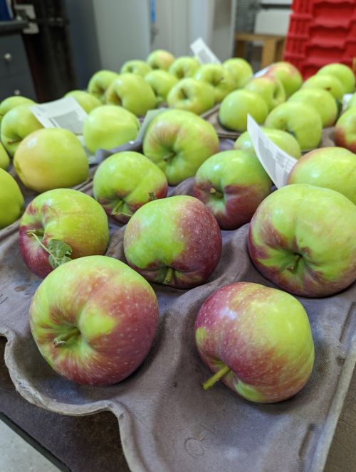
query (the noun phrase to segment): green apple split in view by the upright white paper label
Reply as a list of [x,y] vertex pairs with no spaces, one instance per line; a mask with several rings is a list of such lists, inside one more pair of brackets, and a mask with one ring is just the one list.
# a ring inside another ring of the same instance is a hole
[[[282,131],[281,129],[266,127],[263,127],[262,131],[269,139],[271,139],[271,141],[273,141],[274,144],[276,144],[276,146],[283,149],[283,151],[290,156],[299,159],[302,155],[298,141],[291,134]],[[241,136],[236,139],[234,149],[241,149],[242,151],[248,151],[248,153],[256,155],[248,131],[242,133]]]

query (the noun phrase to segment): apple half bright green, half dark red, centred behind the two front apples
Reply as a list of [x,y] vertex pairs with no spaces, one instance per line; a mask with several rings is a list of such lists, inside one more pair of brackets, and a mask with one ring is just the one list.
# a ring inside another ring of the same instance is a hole
[[127,263],[145,279],[175,289],[204,284],[221,254],[221,231],[197,198],[177,195],[146,203],[124,234]]

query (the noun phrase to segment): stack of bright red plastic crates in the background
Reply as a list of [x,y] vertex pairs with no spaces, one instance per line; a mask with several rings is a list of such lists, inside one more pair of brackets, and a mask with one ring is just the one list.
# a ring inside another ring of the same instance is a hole
[[323,65],[356,58],[355,0],[294,0],[284,59],[306,79]]

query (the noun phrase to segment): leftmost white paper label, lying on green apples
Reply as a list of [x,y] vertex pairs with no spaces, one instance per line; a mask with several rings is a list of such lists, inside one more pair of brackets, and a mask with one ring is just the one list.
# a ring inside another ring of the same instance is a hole
[[88,115],[73,97],[33,105],[30,109],[45,128],[64,128],[77,135],[83,134]]

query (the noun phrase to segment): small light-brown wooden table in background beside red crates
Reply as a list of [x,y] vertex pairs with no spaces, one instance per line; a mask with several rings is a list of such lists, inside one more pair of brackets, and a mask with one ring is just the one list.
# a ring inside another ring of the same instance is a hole
[[266,68],[267,65],[270,65],[271,63],[283,59],[285,36],[257,33],[235,34],[235,56],[244,58],[246,43],[254,41],[262,43],[261,69]]

